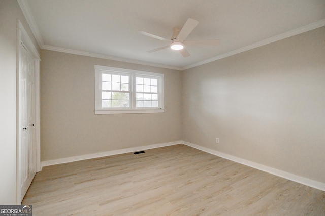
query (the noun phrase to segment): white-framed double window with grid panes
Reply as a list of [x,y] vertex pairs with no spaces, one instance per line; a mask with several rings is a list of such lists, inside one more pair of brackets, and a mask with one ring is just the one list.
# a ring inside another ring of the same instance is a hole
[[164,74],[95,65],[95,114],[164,112]]

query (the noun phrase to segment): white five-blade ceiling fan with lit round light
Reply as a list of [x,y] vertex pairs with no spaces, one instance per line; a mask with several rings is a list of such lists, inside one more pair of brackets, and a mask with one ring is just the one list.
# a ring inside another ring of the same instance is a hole
[[198,21],[188,18],[183,28],[174,27],[173,28],[173,36],[171,39],[166,39],[164,37],[160,37],[145,31],[139,31],[141,34],[153,37],[159,40],[170,42],[170,45],[166,45],[164,47],[159,47],[153,50],[147,51],[148,53],[156,52],[158,50],[163,50],[170,47],[173,50],[179,50],[183,57],[190,56],[189,52],[185,47],[187,46],[200,46],[200,45],[218,45],[220,43],[220,39],[214,40],[185,40],[186,37],[193,31],[193,29],[199,24]]

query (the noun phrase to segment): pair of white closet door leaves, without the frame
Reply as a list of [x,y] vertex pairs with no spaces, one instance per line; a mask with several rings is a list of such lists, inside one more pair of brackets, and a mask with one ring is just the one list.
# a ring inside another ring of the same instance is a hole
[[20,45],[19,55],[19,201],[25,196],[36,174],[35,61]]

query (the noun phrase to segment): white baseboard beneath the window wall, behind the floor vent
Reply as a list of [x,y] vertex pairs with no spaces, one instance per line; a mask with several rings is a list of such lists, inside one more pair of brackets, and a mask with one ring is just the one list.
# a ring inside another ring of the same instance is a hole
[[92,159],[92,158],[106,157],[106,156],[124,154],[124,153],[136,152],[136,151],[143,151],[143,150],[147,150],[147,149],[154,149],[154,148],[172,146],[172,145],[177,145],[177,144],[182,144],[182,141],[159,143],[159,144],[139,146],[139,147],[134,147],[134,148],[126,148],[126,149],[119,149],[119,150],[113,150],[113,151],[107,151],[107,152],[99,152],[99,153],[94,153],[94,154],[66,157],[66,158],[60,158],[60,159],[55,159],[55,160],[46,160],[46,161],[42,161],[41,165],[42,165],[42,167],[43,166],[51,166],[51,165],[57,165],[57,164],[61,164],[61,163],[70,163],[70,162],[75,162],[75,161],[79,161],[79,160],[87,160],[87,159]]

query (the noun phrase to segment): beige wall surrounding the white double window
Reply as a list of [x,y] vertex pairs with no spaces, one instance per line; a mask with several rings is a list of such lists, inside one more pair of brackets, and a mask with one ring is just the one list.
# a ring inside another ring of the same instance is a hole
[[[41,52],[41,160],[181,140],[181,72]],[[164,73],[165,113],[94,114],[94,65]]]

